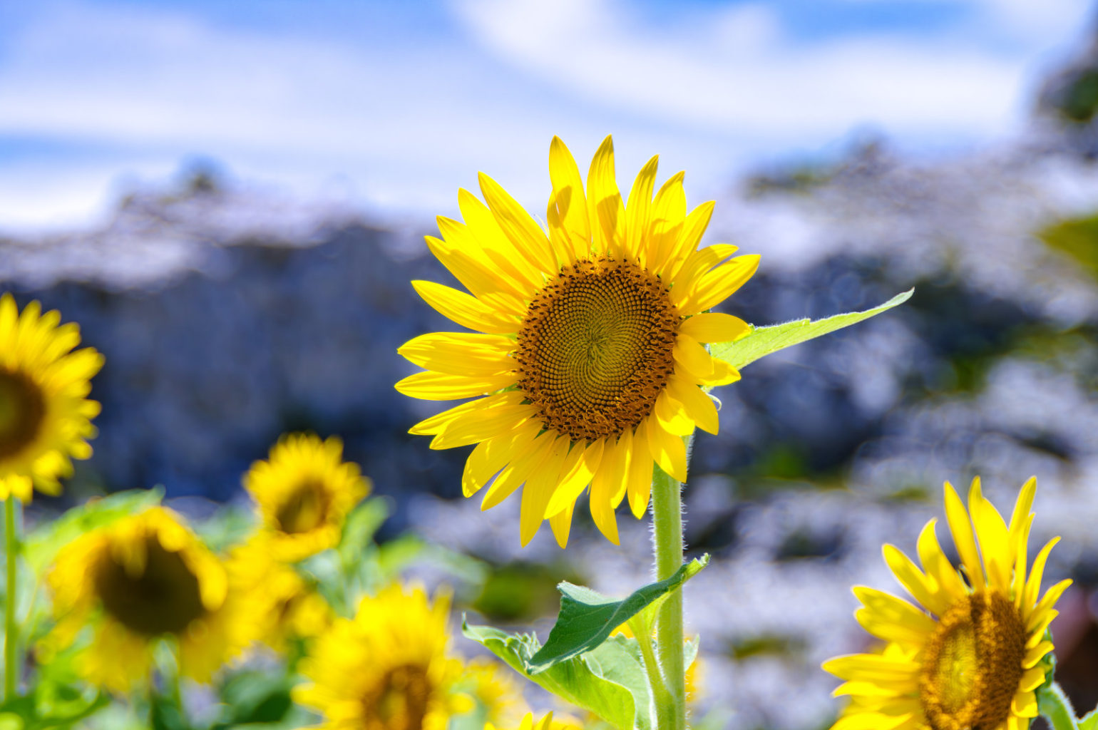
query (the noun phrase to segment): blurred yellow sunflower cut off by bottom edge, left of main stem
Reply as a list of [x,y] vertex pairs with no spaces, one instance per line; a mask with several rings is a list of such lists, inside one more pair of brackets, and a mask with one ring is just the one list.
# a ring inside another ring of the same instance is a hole
[[449,598],[400,585],[363,598],[354,619],[336,619],[299,669],[311,684],[294,699],[324,716],[321,728],[445,730],[472,709],[456,690],[462,663],[447,653]]

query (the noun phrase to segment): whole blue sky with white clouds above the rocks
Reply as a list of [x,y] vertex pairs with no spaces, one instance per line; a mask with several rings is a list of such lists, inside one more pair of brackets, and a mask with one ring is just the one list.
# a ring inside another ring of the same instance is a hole
[[0,232],[78,228],[194,158],[391,220],[484,170],[545,205],[549,139],[613,133],[693,200],[873,130],[994,144],[1080,43],[1090,0],[0,2]]

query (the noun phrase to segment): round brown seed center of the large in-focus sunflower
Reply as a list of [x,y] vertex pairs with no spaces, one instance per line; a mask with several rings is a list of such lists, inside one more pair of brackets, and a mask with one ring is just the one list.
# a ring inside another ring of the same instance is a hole
[[565,266],[518,332],[518,386],[572,440],[621,434],[652,412],[674,371],[681,321],[663,282],[631,261]]

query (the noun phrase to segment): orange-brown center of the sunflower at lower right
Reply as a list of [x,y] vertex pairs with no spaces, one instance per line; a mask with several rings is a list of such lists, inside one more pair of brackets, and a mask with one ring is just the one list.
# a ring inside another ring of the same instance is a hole
[[1022,678],[1026,627],[995,591],[975,593],[944,616],[927,642],[919,700],[933,730],[993,730],[1010,715]]

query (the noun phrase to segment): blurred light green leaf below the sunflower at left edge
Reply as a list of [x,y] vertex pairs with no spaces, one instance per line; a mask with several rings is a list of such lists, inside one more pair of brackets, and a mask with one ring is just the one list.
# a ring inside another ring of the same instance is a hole
[[159,504],[163,496],[163,490],[153,488],[131,490],[89,499],[57,519],[43,523],[27,535],[23,543],[23,557],[31,570],[38,574],[53,562],[58,550],[85,532]]

